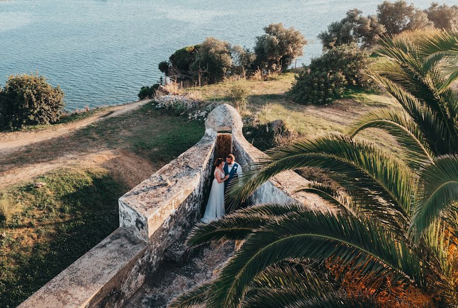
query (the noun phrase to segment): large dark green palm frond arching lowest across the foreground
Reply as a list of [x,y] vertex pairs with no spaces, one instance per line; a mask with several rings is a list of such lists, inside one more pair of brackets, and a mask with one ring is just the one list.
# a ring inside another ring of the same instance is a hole
[[424,285],[417,257],[383,226],[352,216],[304,212],[250,235],[212,284],[208,307],[237,306],[259,273],[294,258],[351,264],[371,280],[388,275],[394,282]]

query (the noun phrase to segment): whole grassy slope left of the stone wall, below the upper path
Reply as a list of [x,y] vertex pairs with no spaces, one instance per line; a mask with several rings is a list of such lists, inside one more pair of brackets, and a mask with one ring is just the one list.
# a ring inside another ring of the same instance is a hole
[[202,122],[147,104],[0,158],[0,174],[16,181],[0,186],[0,201],[19,203],[0,218],[0,307],[15,307],[113,232],[118,198],[203,134]]

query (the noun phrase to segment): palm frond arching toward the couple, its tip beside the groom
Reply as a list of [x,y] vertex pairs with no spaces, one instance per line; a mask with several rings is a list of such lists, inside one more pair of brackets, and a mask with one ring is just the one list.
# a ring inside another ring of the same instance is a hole
[[254,163],[251,171],[228,188],[228,198],[240,203],[264,182],[285,170],[317,167],[347,191],[361,191],[367,203],[390,204],[407,222],[413,177],[408,168],[372,144],[340,134],[298,141],[268,151],[270,160]]

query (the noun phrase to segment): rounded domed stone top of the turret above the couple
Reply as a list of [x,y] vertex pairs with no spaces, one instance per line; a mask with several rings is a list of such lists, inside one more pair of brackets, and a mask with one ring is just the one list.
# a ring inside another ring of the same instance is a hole
[[242,132],[243,122],[239,112],[228,104],[222,104],[214,108],[205,121],[207,133],[218,131]]

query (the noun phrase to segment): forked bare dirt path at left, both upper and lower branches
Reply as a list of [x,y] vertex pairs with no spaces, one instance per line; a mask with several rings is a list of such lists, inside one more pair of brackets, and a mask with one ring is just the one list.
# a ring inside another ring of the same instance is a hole
[[[0,133],[0,188],[24,182],[59,168],[106,168],[134,187],[160,166],[123,147],[113,147],[103,138],[79,136],[89,124],[129,114],[148,103],[138,101],[109,108],[94,116],[36,131]],[[138,123],[120,120],[129,130]]]

